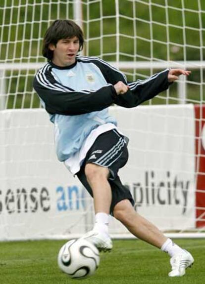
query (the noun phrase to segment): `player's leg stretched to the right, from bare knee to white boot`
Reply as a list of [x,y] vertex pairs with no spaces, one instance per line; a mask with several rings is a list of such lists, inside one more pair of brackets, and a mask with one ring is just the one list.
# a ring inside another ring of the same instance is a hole
[[170,277],[183,276],[186,268],[194,263],[194,258],[188,251],[167,239],[152,223],[135,212],[128,200],[117,203],[113,214],[134,236],[162,249],[171,256]]

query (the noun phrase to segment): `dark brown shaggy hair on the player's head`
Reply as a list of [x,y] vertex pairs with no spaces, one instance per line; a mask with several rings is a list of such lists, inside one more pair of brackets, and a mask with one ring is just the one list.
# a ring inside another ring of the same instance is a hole
[[56,46],[57,42],[62,39],[79,39],[80,48],[83,49],[84,36],[81,28],[71,20],[55,20],[46,31],[43,42],[42,54],[49,60],[52,59],[53,51],[49,48],[49,44]]

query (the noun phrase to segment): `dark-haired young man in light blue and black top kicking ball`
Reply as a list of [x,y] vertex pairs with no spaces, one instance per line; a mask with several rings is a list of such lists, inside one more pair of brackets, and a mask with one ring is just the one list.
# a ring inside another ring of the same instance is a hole
[[80,57],[82,30],[70,20],[56,20],[47,30],[43,56],[48,63],[35,76],[34,88],[54,123],[58,160],[78,176],[94,197],[96,223],[83,238],[110,250],[109,214],[139,239],[171,256],[169,276],[183,276],[192,255],[167,239],[133,209],[134,200],[117,174],[128,159],[127,138],[117,130],[108,107],[135,107],[166,90],[182,69],[166,69],[128,83],[118,69],[96,57]]

